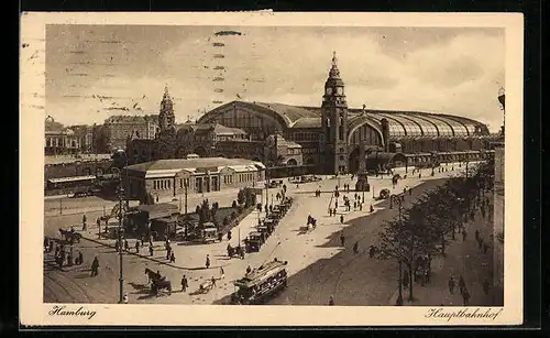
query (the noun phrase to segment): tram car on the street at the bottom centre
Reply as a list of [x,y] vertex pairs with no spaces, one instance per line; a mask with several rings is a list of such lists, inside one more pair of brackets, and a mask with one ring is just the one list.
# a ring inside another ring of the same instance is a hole
[[231,295],[231,304],[264,304],[286,287],[287,264],[287,261],[280,262],[275,259],[237,280],[233,285],[238,287],[238,291]]

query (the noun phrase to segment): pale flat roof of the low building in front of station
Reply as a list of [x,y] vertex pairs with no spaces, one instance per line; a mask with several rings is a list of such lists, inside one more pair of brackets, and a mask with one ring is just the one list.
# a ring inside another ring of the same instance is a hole
[[263,164],[257,161],[245,159],[226,159],[226,157],[199,157],[199,159],[173,159],[157,160],[129,165],[129,171],[142,173],[146,178],[153,177],[169,177],[176,173],[186,170],[190,173],[204,172],[208,168],[209,172],[219,172],[224,167],[232,168],[238,172],[252,171],[252,168],[262,168]]

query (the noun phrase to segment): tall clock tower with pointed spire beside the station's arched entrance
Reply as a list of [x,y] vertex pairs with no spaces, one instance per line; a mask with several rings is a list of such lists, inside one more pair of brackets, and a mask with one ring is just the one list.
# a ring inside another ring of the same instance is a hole
[[326,171],[329,174],[348,173],[348,102],[336,52],[332,56],[329,77],[324,83],[321,119],[323,130],[321,162],[326,163]]

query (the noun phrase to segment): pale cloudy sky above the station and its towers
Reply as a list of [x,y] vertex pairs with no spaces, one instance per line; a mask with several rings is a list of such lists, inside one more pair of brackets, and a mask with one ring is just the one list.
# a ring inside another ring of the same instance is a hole
[[464,28],[48,25],[46,116],[69,126],[158,113],[166,86],[177,122],[238,95],[319,107],[333,52],[351,108],[502,124],[504,30]]

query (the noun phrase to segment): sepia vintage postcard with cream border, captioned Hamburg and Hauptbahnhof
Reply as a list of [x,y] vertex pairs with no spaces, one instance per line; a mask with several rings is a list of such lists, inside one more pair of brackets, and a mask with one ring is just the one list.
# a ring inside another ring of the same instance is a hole
[[521,324],[521,14],[21,22],[22,325]]

